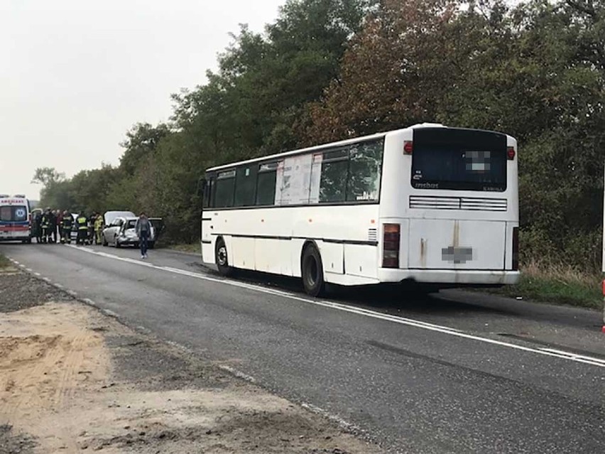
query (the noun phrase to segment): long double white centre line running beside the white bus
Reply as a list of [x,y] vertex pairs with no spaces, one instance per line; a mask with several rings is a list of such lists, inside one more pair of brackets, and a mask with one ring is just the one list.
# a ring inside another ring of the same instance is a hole
[[88,252],[90,254],[104,256],[104,257],[107,257],[108,259],[126,261],[129,263],[137,264],[137,265],[141,265],[141,266],[148,266],[149,268],[158,269],[160,271],[168,271],[168,272],[174,273],[174,274],[181,274],[183,276],[190,276],[190,277],[194,277],[196,279],[202,279],[203,281],[223,283],[224,285],[240,287],[240,288],[249,288],[250,290],[258,291],[261,293],[268,293],[268,294],[276,295],[276,296],[283,296],[285,298],[289,298],[289,299],[292,299],[295,301],[302,301],[303,303],[314,304],[315,306],[322,306],[325,308],[342,310],[344,312],[354,313],[357,315],[364,315],[366,317],[376,318],[378,320],[386,320],[386,321],[393,322],[393,323],[399,323],[400,325],[413,326],[414,328],[421,328],[423,330],[434,331],[436,333],[442,333],[442,334],[452,335],[452,336],[456,336],[456,337],[462,337],[464,339],[475,340],[477,342],[484,342],[486,344],[491,344],[491,345],[498,345],[500,347],[512,348],[513,350],[520,350],[522,352],[530,352],[530,353],[535,353],[537,355],[555,357],[555,358],[559,358],[561,360],[579,362],[582,364],[589,364],[591,366],[605,368],[605,361],[601,360],[599,358],[596,358],[596,357],[575,355],[574,353],[565,352],[563,350],[525,347],[523,345],[512,344],[510,342],[503,342],[502,340],[490,339],[489,337],[481,337],[479,335],[464,333],[464,331],[457,330],[456,328],[449,328],[449,327],[443,326],[443,325],[434,325],[432,323],[426,323],[421,320],[414,320],[412,318],[396,317],[395,315],[383,314],[383,313],[375,312],[374,310],[357,308],[354,306],[347,306],[346,304],[334,303],[332,301],[322,301],[322,300],[312,300],[309,298],[302,298],[300,296],[296,296],[293,293],[276,291],[276,290],[273,290],[272,288],[256,286],[256,285],[250,284],[250,283],[231,281],[229,279],[217,279],[217,278],[205,276],[204,274],[194,273],[192,271],[185,271],[185,270],[178,269],[178,268],[172,268],[170,266],[156,266],[156,265],[153,265],[148,262],[128,259],[125,257],[116,256],[113,254],[107,254],[105,252],[96,252],[92,249],[80,248],[80,247],[75,247],[75,246],[72,246],[72,247],[74,247],[77,250],[83,251],[83,252]]

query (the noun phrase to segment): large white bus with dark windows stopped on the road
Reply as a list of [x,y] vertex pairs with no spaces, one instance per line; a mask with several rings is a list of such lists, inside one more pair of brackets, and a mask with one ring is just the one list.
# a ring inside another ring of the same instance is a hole
[[418,124],[209,168],[202,260],[325,283],[517,283],[517,141]]

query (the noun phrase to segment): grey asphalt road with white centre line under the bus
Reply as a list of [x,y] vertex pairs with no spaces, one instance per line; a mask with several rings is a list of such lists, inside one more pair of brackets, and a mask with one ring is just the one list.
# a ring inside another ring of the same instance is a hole
[[313,300],[291,279],[224,280],[197,257],[0,244],[0,252],[389,453],[605,452],[598,312],[392,288]]

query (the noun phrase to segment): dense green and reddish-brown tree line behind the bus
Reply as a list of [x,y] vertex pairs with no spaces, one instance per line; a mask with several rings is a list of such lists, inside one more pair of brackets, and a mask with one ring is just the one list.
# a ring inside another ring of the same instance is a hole
[[218,63],[119,166],[38,169],[41,203],[144,209],[195,242],[205,168],[438,121],[518,139],[523,261],[600,269],[605,0],[288,0]]

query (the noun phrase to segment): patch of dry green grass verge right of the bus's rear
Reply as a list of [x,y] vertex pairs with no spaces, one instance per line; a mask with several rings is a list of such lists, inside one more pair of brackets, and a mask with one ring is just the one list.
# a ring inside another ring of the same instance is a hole
[[521,279],[517,285],[489,292],[545,303],[601,309],[601,280],[601,274],[582,273],[562,264],[528,264],[521,269]]

